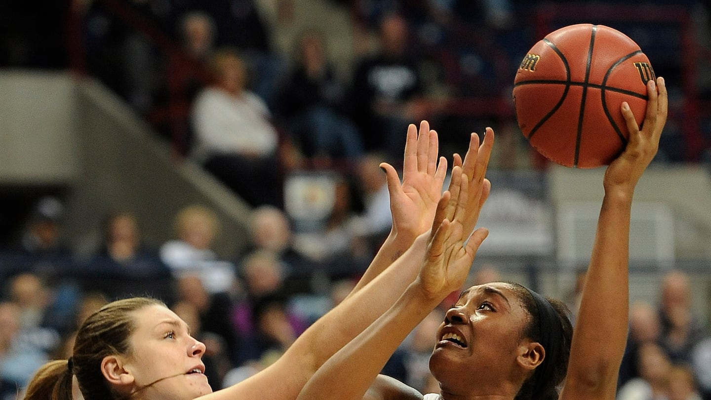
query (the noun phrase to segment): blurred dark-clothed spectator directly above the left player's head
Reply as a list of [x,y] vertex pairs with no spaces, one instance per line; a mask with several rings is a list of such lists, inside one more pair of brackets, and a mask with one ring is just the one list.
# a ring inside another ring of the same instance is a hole
[[82,270],[85,287],[109,298],[142,293],[167,301],[171,271],[157,250],[142,243],[137,217],[130,212],[111,214],[103,233],[99,250]]

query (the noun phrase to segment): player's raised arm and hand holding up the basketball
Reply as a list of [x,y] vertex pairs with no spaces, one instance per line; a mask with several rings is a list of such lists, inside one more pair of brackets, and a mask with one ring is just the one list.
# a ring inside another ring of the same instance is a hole
[[638,179],[657,152],[667,115],[663,78],[647,84],[641,130],[629,105],[622,114],[629,130],[625,151],[607,168],[604,199],[573,331],[563,400],[614,400],[627,338],[629,223]]

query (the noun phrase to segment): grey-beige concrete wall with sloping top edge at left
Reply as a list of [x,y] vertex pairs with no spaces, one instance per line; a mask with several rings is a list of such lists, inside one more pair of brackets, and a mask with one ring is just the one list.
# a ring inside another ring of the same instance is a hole
[[110,211],[133,211],[147,243],[173,237],[173,216],[193,203],[212,207],[222,234],[215,250],[245,246],[245,203],[169,146],[122,101],[91,79],[63,73],[0,73],[0,184],[65,187],[65,238],[95,250]]

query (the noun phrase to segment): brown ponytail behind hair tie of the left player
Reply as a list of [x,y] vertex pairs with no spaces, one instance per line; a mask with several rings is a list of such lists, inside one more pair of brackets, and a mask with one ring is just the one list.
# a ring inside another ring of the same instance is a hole
[[72,400],[72,377],[68,360],[44,364],[27,386],[24,400]]

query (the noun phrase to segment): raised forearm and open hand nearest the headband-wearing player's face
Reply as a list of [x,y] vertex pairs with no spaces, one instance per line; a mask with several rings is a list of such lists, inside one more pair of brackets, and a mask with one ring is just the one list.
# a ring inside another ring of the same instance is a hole
[[[474,262],[479,245],[488,231],[479,228],[469,238],[464,221],[469,179],[461,167],[452,172],[454,207],[443,207],[445,216],[454,211],[454,219],[441,221],[430,241],[427,256],[417,279],[373,325],[346,344],[304,386],[299,400],[363,399],[387,359],[407,334],[454,290],[460,290]],[[459,179],[459,177],[462,177]],[[385,394],[370,392],[372,399],[385,399]]]

